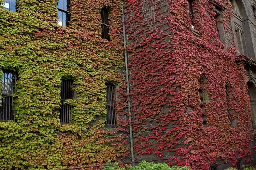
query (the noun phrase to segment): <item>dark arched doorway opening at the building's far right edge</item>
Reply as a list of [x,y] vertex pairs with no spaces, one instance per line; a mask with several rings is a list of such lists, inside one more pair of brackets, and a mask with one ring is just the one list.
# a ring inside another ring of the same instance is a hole
[[250,105],[252,112],[252,126],[256,129],[256,87],[252,82],[247,82],[248,94],[250,96]]

